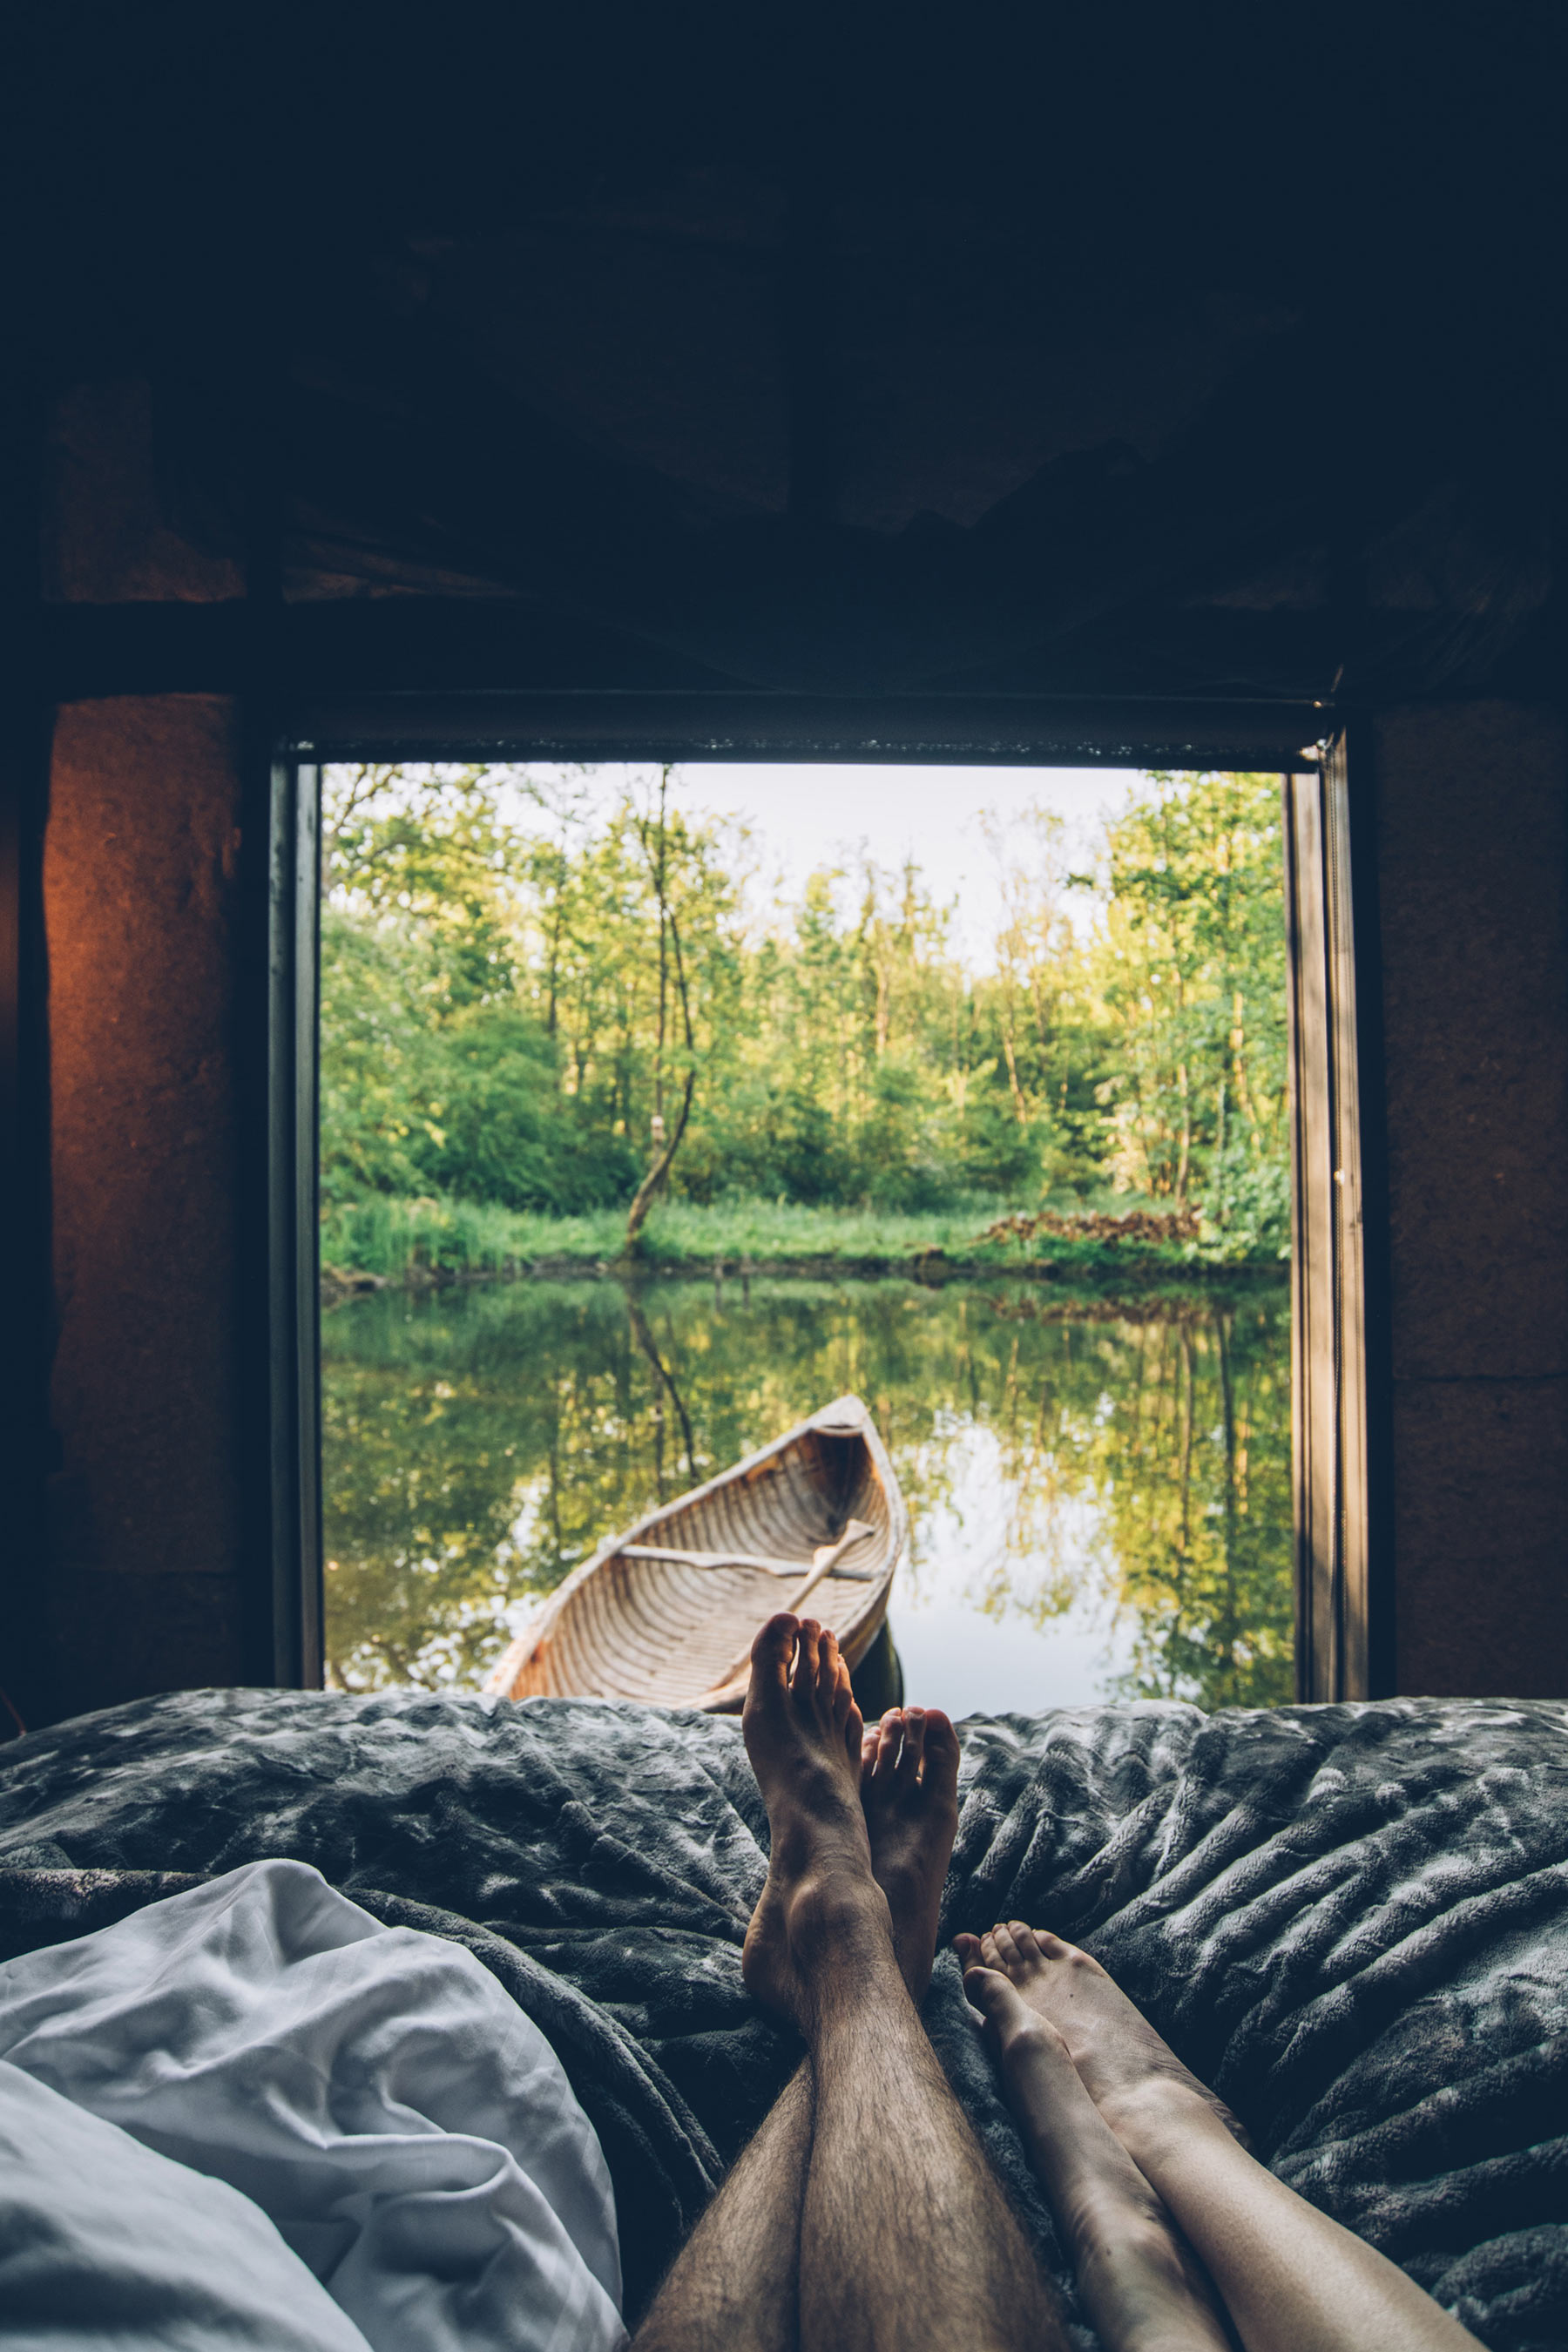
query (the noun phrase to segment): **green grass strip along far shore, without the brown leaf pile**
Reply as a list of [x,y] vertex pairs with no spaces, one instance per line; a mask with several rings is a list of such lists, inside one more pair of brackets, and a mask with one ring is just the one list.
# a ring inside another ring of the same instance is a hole
[[[1009,1207],[1001,1200],[976,1197],[907,1216],[889,1209],[813,1209],[802,1202],[764,1200],[717,1202],[703,1209],[675,1200],[651,1211],[637,1256],[649,1265],[691,1272],[712,1270],[715,1258],[724,1258],[729,1272],[743,1261],[757,1270],[792,1263],[813,1270],[832,1265],[898,1270],[940,1251],[950,1265],[1025,1272],[1051,1265],[1056,1272],[1091,1279],[1117,1265],[1178,1270],[1279,1258],[1272,1249],[1237,1249],[1218,1237],[1206,1237],[1201,1244],[1105,1244],[1060,1235],[1030,1244],[978,1242],[978,1235]],[[1135,1204],[1107,1197],[1093,1207],[1121,1214]],[[618,1265],[623,1258],[623,1209],[543,1216],[468,1200],[395,1200],[376,1192],[360,1202],[336,1202],[322,1216],[324,1265],[343,1275],[381,1275],[393,1282],[421,1270],[437,1279],[510,1275],[527,1272],[541,1261],[559,1270],[590,1272]]]

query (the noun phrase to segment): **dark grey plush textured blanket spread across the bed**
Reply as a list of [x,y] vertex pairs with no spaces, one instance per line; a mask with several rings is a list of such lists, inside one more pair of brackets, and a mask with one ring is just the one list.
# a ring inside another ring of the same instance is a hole
[[[945,1933],[1011,1915],[1086,1943],[1281,2178],[1495,2352],[1568,2345],[1568,1708],[961,1736]],[[461,1938],[543,2025],[604,2140],[635,2312],[797,2058],[741,1985],[766,1818],[738,1726],[200,1691],[0,1750],[0,1957],[268,1853]],[[1077,2324],[952,1957],[926,2025]]]

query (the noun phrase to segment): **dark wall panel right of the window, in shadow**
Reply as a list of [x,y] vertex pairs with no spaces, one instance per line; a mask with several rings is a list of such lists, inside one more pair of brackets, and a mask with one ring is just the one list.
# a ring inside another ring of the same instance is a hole
[[1406,708],[1371,753],[1396,1689],[1561,1696],[1568,734],[1542,706]]

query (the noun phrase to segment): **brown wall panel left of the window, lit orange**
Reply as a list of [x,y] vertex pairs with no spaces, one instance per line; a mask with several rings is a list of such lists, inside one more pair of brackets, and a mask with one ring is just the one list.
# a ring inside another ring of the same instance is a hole
[[235,706],[66,706],[45,837],[56,1350],[47,1621],[73,1712],[240,1682]]

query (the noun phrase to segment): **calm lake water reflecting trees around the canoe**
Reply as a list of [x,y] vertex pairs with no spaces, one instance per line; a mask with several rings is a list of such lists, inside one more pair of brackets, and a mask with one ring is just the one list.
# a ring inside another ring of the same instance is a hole
[[1293,1696],[1284,1284],[383,1291],[324,1315],[322,1367],[339,1689],[477,1686],[604,1534],[858,1390],[910,1505],[910,1698]]

